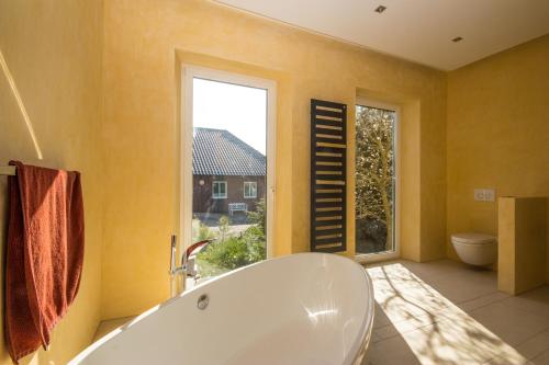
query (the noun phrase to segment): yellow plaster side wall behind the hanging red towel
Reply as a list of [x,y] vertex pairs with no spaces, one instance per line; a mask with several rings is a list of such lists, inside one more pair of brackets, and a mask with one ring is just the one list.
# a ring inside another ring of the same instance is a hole
[[[102,20],[101,1],[0,1],[0,50],[44,156],[37,159],[7,73],[0,68],[0,164],[14,159],[79,170],[86,208],[85,265],[78,297],[54,330],[49,351],[40,350],[21,364],[67,364],[91,342],[100,320]],[[7,208],[7,176],[0,176],[2,253]],[[11,364],[3,333],[0,338],[0,364]]]

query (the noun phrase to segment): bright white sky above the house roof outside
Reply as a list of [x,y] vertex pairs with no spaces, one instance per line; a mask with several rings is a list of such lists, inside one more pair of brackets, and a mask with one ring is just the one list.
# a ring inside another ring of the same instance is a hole
[[266,152],[267,90],[193,80],[193,127],[227,129]]

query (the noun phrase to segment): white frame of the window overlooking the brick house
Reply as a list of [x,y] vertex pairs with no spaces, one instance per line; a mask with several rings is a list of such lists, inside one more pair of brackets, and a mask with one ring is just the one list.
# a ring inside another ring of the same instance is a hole
[[182,248],[187,249],[192,240],[192,139],[193,139],[193,79],[232,83],[267,91],[267,259],[273,255],[274,242],[274,204],[276,204],[276,157],[277,157],[277,82],[273,80],[250,77],[211,69],[200,66],[182,65],[181,67],[181,149],[180,149],[180,199],[179,231]]

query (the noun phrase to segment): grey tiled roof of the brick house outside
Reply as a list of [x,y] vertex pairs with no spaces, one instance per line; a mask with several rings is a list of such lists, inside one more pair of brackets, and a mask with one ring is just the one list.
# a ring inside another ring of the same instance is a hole
[[194,128],[193,174],[264,176],[266,168],[265,156],[228,130]]

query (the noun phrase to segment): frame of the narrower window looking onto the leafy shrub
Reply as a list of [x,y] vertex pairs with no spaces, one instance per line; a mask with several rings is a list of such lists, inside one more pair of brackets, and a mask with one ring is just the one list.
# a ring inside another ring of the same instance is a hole
[[[393,260],[397,259],[401,255],[401,239],[400,239],[400,227],[401,227],[401,215],[400,215],[400,201],[401,201],[401,182],[400,182],[400,170],[401,170],[401,158],[400,158],[400,152],[399,152],[399,147],[401,145],[401,139],[400,139],[400,116],[401,116],[401,109],[399,105],[395,104],[390,104],[390,103],[384,103],[381,101],[368,99],[368,98],[360,98],[357,96],[355,101],[355,107],[357,105],[360,106],[369,106],[369,107],[377,107],[377,109],[383,109],[388,111],[393,111],[395,113],[395,118],[394,118],[394,235],[393,235],[393,243],[394,243],[394,250],[393,251],[383,251],[379,253],[360,253],[357,254],[355,250],[355,261],[359,263],[370,263],[370,262],[378,262],[378,261],[386,261],[386,260]],[[355,113],[356,115],[356,113]],[[356,139],[356,135],[355,135]],[[354,170],[356,174],[356,169]],[[352,192],[355,194],[355,192]],[[356,227],[355,227],[355,242],[356,242]]]

